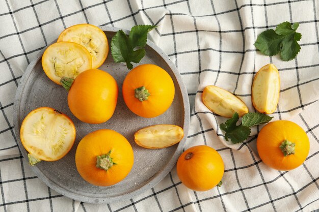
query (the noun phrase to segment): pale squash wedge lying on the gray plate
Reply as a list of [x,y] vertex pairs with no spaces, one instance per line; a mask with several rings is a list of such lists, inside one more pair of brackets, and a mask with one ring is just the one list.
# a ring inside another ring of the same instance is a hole
[[178,143],[184,131],[176,125],[153,125],[134,134],[135,142],[145,148],[165,148]]

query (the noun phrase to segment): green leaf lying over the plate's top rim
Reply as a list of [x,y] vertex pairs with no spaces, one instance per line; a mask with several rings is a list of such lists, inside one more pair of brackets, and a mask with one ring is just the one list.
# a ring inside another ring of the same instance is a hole
[[145,56],[143,49],[147,42],[147,33],[156,26],[133,26],[129,37],[122,31],[118,31],[111,41],[111,53],[115,63],[126,63],[128,69],[132,69],[131,63],[139,63]]

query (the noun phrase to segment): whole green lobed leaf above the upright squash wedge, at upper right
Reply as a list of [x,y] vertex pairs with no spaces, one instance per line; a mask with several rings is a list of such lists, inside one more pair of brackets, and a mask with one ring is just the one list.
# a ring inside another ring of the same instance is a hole
[[296,30],[299,23],[285,21],[280,23],[276,30],[268,29],[258,35],[255,46],[264,55],[273,56],[280,52],[280,57],[284,61],[294,59],[299,53],[301,47],[297,41],[300,41],[301,34]]

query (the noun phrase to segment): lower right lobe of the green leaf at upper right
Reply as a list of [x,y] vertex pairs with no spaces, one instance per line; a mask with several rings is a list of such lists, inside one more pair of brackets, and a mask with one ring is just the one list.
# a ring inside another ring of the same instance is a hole
[[282,40],[280,58],[284,61],[294,59],[301,49],[300,45],[294,38],[295,34],[290,34]]

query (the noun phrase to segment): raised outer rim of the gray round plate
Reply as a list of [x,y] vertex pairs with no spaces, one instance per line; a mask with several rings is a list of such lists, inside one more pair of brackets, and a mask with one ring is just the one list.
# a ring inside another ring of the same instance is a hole
[[[122,29],[122,28],[117,28],[117,27],[112,27],[112,26],[98,26],[100,29],[102,29],[102,31],[107,31],[107,32],[117,32],[119,30],[123,30],[125,34],[129,34],[129,31],[127,29]],[[32,60],[32,62],[28,65],[28,67],[26,67],[20,82],[19,82],[19,86],[17,88],[15,97],[14,97],[14,105],[13,105],[13,124],[14,124],[14,132],[15,132],[15,136],[16,136],[16,140],[17,140],[17,144],[20,150],[20,153],[23,156],[23,160],[24,161],[28,161],[27,158],[27,154],[26,154],[26,150],[24,149],[24,147],[22,146],[22,143],[20,141],[20,129],[18,126],[18,120],[19,120],[19,108],[20,108],[20,99],[23,95],[23,90],[24,90],[24,86],[26,84],[26,81],[28,80],[31,72],[33,71],[35,65],[38,63],[39,59],[41,59],[43,52],[45,51],[45,49],[51,45],[52,43],[55,43],[55,41],[51,42],[50,44],[48,44],[47,46],[45,46],[37,55],[36,57]],[[178,82],[179,85],[179,89],[181,92],[181,96],[182,96],[182,100],[183,100],[183,106],[184,106],[184,123],[183,123],[183,131],[184,131],[184,137],[183,139],[178,143],[178,146],[175,150],[175,153],[173,154],[173,156],[171,157],[171,159],[168,161],[168,163],[164,166],[164,168],[162,170],[160,170],[159,172],[157,172],[153,177],[151,177],[150,179],[148,179],[148,181],[146,181],[146,184],[141,186],[140,188],[122,194],[122,195],[116,195],[116,196],[111,196],[111,197],[91,197],[91,196],[84,196],[81,194],[76,194],[73,193],[72,191],[63,188],[61,186],[59,186],[58,184],[56,184],[54,181],[52,181],[51,179],[49,179],[49,177],[47,177],[37,166],[30,166],[30,168],[32,169],[32,171],[37,175],[37,177],[43,181],[43,183],[48,186],[49,188],[55,190],[56,192],[70,198],[70,199],[74,199],[74,200],[78,200],[78,201],[83,201],[83,202],[87,202],[87,203],[111,203],[111,202],[116,202],[116,201],[120,201],[120,200],[124,200],[124,199],[130,199],[132,197],[134,197],[135,195],[139,195],[142,194],[143,192],[145,192],[148,189],[151,189],[152,187],[154,187],[156,184],[158,184],[165,176],[167,176],[167,174],[172,170],[172,168],[175,166],[177,159],[179,157],[179,155],[182,152],[183,146],[185,144],[185,141],[187,140],[187,136],[188,136],[188,130],[189,130],[189,125],[190,125],[190,104],[189,104],[189,98],[188,98],[188,93],[187,93],[187,89],[182,81],[181,75],[179,73],[179,71],[177,70],[176,66],[173,64],[173,62],[171,61],[171,59],[169,58],[169,56],[161,49],[159,48],[156,44],[154,44],[152,41],[150,41],[149,39],[147,39],[147,45],[152,48],[154,51],[156,51],[159,55],[161,55],[161,57],[164,59],[164,61],[167,63],[167,65],[170,67],[170,69],[172,70],[173,75],[176,78],[176,81]]]

